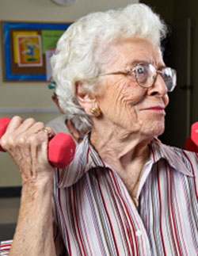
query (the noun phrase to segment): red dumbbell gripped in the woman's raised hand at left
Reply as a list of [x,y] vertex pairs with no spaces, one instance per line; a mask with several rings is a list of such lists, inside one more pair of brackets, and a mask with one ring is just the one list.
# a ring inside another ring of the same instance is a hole
[[[3,117],[0,119],[0,139],[6,132],[10,123],[10,118]],[[75,153],[74,139],[70,135],[59,132],[48,143],[48,159],[52,166],[64,168],[74,159]],[[4,151],[0,144],[0,151]]]

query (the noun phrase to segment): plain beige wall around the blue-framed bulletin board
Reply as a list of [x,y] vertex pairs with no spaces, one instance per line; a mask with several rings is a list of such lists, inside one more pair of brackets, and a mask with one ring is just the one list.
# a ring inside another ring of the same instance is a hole
[[[57,6],[51,0],[1,0],[1,21],[61,21],[72,22],[93,11],[108,10],[127,6],[139,0],[78,0],[74,6]],[[2,39],[1,39],[2,40]],[[2,67],[2,48],[0,51]],[[0,118],[33,117],[44,123],[59,113],[31,113],[31,109],[55,109],[51,101],[52,92],[47,82],[2,82],[0,71]],[[3,109],[30,109],[30,113],[3,113]],[[0,153],[0,187],[21,185],[17,167],[10,156]]]

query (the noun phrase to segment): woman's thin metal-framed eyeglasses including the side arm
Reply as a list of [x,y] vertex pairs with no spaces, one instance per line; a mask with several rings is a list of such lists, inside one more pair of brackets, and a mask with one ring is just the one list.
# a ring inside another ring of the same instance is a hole
[[152,64],[146,62],[137,63],[135,67],[131,68],[130,70],[116,71],[101,74],[99,76],[119,74],[135,77],[139,86],[145,89],[154,85],[158,74],[162,76],[169,92],[174,90],[177,82],[177,72],[171,67],[163,67],[161,70],[157,70]]

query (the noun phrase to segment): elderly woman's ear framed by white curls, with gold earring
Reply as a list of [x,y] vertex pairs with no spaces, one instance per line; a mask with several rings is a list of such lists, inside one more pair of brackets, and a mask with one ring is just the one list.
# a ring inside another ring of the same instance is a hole
[[75,83],[75,96],[78,103],[82,106],[82,109],[84,109],[89,116],[92,116],[90,109],[93,108],[93,106],[96,106],[97,102],[95,97],[83,89],[83,83],[81,81]]

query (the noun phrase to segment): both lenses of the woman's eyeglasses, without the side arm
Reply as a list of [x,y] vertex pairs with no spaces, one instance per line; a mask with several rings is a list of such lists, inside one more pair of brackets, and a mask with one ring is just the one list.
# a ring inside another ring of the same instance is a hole
[[143,86],[144,88],[149,88],[154,84],[158,73],[162,75],[168,91],[173,91],[176,86],[176,72],[170,67],[163,68],[162,71],[157,71],[150,63],[139,63],[133,71],[135,72],[135,78],[139,86]]

